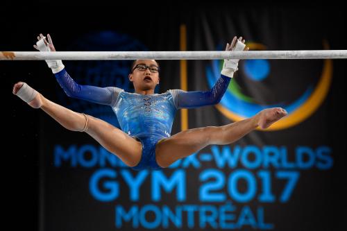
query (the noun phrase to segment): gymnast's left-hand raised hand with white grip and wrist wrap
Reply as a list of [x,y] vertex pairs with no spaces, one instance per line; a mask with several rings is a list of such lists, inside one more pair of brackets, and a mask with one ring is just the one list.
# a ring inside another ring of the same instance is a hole
[[[37,49],[37,51],[56,51],[56,48],[54,48],[53,41],[51,39],[51,35],[47,34],[48,42],[46,40],[46,37],[44,35],[40,34],[40,36],[37,36],[37,42],[36,45],[34,44],[34,48]],[[52,69],[53,74],[58,73],[62,69],[64,69],[64,65],[62,65],[62,60],[45,60],[49,68]]]

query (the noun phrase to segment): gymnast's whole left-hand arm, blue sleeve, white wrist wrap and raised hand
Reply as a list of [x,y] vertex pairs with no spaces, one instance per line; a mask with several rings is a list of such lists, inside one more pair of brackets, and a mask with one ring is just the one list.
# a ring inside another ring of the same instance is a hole
[[[51,36],[47,35],[49,42],[40,34],[37,36],[38,42],[34,45],[39,51],[56,51],[51,40]],[[83,99],[92,103],[104,105],[112,105],[115,102],[118,93],[121,91],[118,87],[95,87],[89,85],[79,85],[67,74],[62,60],[46,60],[47,65],[51,68],[56,79],[64,89],[67,96],[76,99]]]

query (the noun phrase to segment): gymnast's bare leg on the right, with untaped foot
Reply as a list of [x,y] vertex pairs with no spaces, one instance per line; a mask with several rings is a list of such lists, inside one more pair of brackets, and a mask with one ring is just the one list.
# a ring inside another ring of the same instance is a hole
[[286,114],[282,108],[269,108],[254,117],[226,126],[208,126],[178,132],[158,142],[155,147],[155,160],[159,166],[166,168],[176,160],[192,155],[210,144],[232,144],[258,126],[268,128]]

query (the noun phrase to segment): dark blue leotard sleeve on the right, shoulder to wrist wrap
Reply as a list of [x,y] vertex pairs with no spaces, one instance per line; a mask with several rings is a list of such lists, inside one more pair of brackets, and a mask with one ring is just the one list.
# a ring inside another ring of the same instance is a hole
[[230,80],[231,78],[221,75],[214,87],[207,92],[185,92],[181,89],[171,90],[176,108],[198,108],[219,103],[226,89],[228,89]]

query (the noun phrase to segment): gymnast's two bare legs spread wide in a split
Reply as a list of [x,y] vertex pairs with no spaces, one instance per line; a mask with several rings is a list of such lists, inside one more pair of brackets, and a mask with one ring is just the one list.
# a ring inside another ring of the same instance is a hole
[[[13,94],[26,101],[32,108],[41,108],[68,130],[87,132],[126,165],[136,166],[141,160],[142,143],[110,123],[53,103],[22,82],[15,84]],[[159,166],[168,167],[176,160],[192,155],[210,144],[231,144],[258,126],[268,128],[286,114],[282,108],[269,108],[260,111],[254,117],[226,126],[208,126],[178,132],[158,142],[155,147],[156,161]]]

